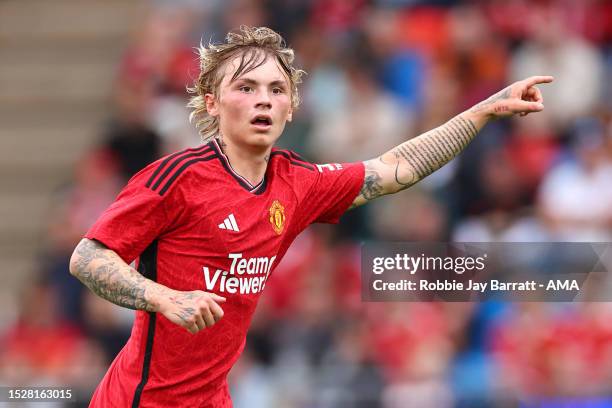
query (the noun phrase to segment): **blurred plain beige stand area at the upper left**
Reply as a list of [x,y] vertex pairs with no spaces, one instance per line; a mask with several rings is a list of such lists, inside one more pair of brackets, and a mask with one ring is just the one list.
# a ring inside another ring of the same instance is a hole
[[115,66],[145,7],[0,2],[0,321],[37,267],[53,191],[70,180],[109,114]]

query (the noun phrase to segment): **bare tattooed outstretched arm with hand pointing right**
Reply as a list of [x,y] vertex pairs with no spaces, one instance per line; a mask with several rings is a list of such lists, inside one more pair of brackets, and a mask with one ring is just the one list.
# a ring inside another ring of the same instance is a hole
[[351,208],[424,179],[461,153],[489,120],[541,111],[542,94],[535,85],[552,80],[534,76],[515,82],[442,126],[364,162],[365,179]]

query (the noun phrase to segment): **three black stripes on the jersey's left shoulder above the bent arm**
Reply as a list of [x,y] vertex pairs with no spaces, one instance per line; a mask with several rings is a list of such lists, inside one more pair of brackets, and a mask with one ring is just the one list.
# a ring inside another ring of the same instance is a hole
[[194,163],[212,160],[217,153],[210,144],[197,148],[186,149],[166,157],[147,181],[146,186],[159,195],[164,195],[172,183]]

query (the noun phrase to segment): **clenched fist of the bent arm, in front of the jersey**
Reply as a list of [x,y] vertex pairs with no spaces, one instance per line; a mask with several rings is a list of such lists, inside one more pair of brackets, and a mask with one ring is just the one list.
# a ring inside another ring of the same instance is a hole
[[223,302],[224,297],[201,290],[172,291],[160,302],[159,312],[195,334],[221,320],[223,309],[219,303]]

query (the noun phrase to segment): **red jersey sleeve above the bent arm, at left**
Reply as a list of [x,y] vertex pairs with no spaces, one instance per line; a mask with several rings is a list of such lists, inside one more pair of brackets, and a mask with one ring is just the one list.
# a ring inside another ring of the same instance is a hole
[[160,195],[146,185],[148,169],[134,176],[117,199],[87,231],[85,238],[100,241],[131,263],[157,237],[176,223],[175,211],[182,208],[174,189]]

